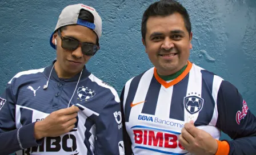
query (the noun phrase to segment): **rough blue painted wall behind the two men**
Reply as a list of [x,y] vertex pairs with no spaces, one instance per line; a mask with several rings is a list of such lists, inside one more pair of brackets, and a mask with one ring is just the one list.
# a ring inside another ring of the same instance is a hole
[[[141,18],[152,0],[14,1],[0,3],[0,93],[18,72],[48,66],[49,37],[66,6],[85,3],[102,17],[101,50],[87,68],[121,93],[152,67],[141,42]],[[256,115],[256,1],[183,0],[193,30],[190,61],[229,80]],[[225,135],[222,138],[227,138]]]

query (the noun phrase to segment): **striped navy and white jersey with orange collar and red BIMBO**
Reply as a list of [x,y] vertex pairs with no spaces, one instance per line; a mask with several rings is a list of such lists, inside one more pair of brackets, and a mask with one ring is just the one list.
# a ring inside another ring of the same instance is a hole
[[233,141],[229,154],[256,154],[256,119],[232,84],[188,62],[169,83],[155,68],[127,81],[121,93],[126,154],[190,154],[178,142],[185,123]]

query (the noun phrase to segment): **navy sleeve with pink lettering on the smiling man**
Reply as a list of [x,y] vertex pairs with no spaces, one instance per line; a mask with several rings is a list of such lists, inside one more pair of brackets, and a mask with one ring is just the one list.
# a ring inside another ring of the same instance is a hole
[[222,81],[217,96],[216,126],[233,140],[227,141],[229,154],[256,154],[256,118],[237,88]]

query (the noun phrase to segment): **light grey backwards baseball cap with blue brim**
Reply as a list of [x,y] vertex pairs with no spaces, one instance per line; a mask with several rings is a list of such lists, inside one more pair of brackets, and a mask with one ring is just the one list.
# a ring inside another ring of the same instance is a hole
[[[81,19],[78,19],[79,13],[81,10],[87,10],[94,16],[94,23],[90,23],[87,21],[83,21]],[[61,28],[62,26],[67,26],[67,25],[82,25],[90,28],[93,30],[98,38],[101,37],[102,33],[102,20],[97,11],[90,6],[83,5],[81,3],[76,4],[76,5],[69,5],[66,6],[62,11],[61,14],[59,15],[59,19],[57,22],[57,25],[55,27],[55,30],[53,34],[51,34],[50,37],[50,45],[55,49],[55,45],[51,42],[53,40],[53,35],[58,28]]]

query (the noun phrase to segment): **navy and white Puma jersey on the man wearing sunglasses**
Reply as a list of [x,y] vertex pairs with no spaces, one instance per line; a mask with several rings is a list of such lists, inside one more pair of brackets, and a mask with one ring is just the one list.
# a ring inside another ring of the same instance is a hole
[[[120,100],[114,88],[84,68],[79,75],[59,79],[51,68],[20,72],[0,98],[0,154],[124,154]],[[79,107],[69,134],[36,141],[34,124],[51,112]],[[70,106],[71,106],[70,105]],[[70,137],[70,138],[69,138]]]

